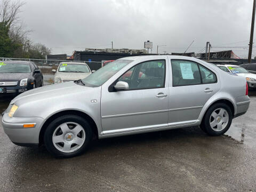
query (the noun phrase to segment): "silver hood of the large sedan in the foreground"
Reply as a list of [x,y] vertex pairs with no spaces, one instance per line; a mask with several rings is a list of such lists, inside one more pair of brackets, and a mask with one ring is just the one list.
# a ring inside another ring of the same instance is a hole
[[47,85],[21,93],[11,101],[11,104],[15,103],[19,106],[24,102],[33,102],[36,100],[50,100],[54,97],[61,97],[67,94],[74,94],[90,89],[93,88],[77,85],[74,82]]

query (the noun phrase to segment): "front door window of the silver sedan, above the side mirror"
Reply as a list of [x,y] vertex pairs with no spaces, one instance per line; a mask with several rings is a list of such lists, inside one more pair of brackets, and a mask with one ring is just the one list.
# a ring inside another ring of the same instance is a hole
[[129,89],[164,87],[165,60],[147,61],[129,69],[118,81],[129,84]]

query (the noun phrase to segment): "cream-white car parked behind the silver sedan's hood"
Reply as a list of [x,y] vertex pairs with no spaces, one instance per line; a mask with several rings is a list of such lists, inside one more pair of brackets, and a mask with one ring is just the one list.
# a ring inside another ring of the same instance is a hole
[[92,74],[91,69],[84,62],[61,62],[54,74],[53,83],[76,81]]

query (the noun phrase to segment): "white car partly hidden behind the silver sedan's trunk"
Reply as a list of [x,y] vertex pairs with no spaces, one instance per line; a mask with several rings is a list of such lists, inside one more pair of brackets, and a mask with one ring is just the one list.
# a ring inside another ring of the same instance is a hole
[[256,74],[252,74],[245,68],[236,65],[217,65],[220,69],[229,73],[236,74],[238,76],[245,77],[249,88],[254,89],[256,87]]

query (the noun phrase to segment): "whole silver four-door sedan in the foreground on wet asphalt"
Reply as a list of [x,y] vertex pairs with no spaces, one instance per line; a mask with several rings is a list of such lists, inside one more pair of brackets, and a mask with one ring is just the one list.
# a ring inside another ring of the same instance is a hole
[[127,57],[82,80],[19,95],[2,125],[17,145],[44,143],[54,156],[71,157],[85,151],[93,134],[101,139],[200,125],[222,135],[246,113],[247,94],[244,77],[196,58]]

